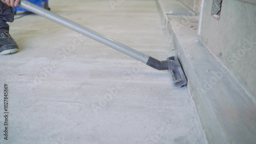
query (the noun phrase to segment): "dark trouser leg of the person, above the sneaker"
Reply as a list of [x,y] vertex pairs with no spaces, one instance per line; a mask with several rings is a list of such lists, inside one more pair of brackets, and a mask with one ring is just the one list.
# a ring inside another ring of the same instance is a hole
[[12,7],[8,7],[2,1],[0,1],[0,33],[8,32],[9,25],[6,23],[14,20],[14,11]]

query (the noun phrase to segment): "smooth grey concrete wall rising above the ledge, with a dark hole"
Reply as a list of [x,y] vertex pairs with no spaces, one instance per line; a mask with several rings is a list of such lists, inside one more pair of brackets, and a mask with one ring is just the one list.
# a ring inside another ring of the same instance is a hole
[[256,100],[256,5],[223,0],[220,19],[205,1],[201,38],[230,74]]

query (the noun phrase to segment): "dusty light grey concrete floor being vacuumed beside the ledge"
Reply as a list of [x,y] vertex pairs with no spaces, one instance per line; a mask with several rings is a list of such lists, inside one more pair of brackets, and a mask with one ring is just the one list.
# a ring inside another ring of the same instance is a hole
[[[56,0],[50,7],[159,60],[174,55],[155,1],[112,9],[109,1]],[[186,87],[173,87],[168,71],[38,15],[10,28],[20,51],[0,56],[0,92],[9,86],[9,140],[1,134],[0,143],[207,143],[194,101]]]

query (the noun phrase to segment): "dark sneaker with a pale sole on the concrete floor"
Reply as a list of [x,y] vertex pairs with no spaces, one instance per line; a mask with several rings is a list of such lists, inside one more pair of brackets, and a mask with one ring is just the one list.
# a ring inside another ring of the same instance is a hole
[[7,32],[0,33],[0,54],[13,54],[18,52],[18,45]]

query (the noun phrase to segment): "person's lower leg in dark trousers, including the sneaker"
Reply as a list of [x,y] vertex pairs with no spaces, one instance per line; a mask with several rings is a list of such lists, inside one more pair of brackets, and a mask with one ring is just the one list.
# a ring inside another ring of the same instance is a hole
[[0,54],[18,52],[18,45],[9,34],[9,25],[6,23],[14,20],[13,8],[0,1]]

